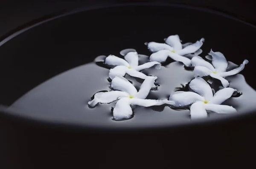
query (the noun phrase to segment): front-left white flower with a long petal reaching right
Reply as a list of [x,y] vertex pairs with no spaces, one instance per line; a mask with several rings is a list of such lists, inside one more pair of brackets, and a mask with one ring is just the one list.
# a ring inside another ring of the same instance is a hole
[[157,106],[162,104],[172,104],[173,101],[165,100],[151,100],[145,99],[152,87],[155,87],[154,81],[157,77],[148,76],[140,86],[140,91],[124,77],[116,76],[111,82],[111,87],[118,91],[99,92],[94,95],[93,100],[89,101],[90,106],[96,106],[97,103],[111,103],[115,100],[116,106],[113,109],[114,120],[124,120],[132,117],[133,112],[130,105],[137,106]]

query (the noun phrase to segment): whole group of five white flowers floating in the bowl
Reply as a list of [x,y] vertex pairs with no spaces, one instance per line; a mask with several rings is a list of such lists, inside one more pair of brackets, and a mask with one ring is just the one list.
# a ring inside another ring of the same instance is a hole
[[[236,112],[232,106],[221,105],[237,92],[236,89],[229,87],[230,83],[225,77],[241,72],[248,60],[244,60],[236,69],[227,71],[228,62],[221,52],[211,50],[205,57],[206,60],[198,56],[202,53],[200,48],[204,38],[195,43],[185,44],[181,43],[178,35],[169,36],[164,40],[165,43],[145,43],[152,54],[148,62],[142,65],[139,65],[140,54],[135,50],[120,52],[124,59],[114,55],[106,57],[104,64],[111,68],[109,79],[112,90],[96,93],[88,105],[94,107],[98,103],[111,103],[117,100],[113,108],[113,120],[127,120],[133,117],[131,105],[149,107],[166,104],[172,108],[189,108],[191,119],[207,117],[207,111],[225,114]],[[152,66],[156,69],[160,68],[167,57],[182,62],[184,66],[193,70],[195,77],[188,84],[189,91],[173,92],[169,99],[146,99],[151,89],[157,87],[154,84],[157,77],[140,71]],[[125,78],[126,74],[144,80],[139,91]],[[219,81],[221,84],[217,92],[210,84],[213,81]]]

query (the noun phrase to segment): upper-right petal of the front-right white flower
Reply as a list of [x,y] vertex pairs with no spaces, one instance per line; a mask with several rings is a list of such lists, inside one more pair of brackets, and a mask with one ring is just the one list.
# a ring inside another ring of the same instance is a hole
[[209,101],[211,104],[221,104],[225,100],[229,99],[233,93],[236,91],[236,89],[227,87],[224,89],[219,90],[216,92],[212,98],[212,100]]

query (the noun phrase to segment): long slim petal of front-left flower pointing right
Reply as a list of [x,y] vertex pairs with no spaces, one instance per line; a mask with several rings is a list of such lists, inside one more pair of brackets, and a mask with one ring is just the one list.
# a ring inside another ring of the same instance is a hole
[[152,100],[152,99],[138,99],[132,98],[130,99],[130,103],[136,106],[150,107],[150,106],[159,106],[163,104],[173,105],[173,101],[169,101],[167,99],[164,100]]

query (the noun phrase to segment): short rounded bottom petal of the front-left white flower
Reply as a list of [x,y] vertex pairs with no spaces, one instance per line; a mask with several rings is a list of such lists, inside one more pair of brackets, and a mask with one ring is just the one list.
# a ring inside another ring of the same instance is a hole
[[113,109],[113,120],[127,120],[132,117],[133,112],[129,98],[122,98],[116,102]]

